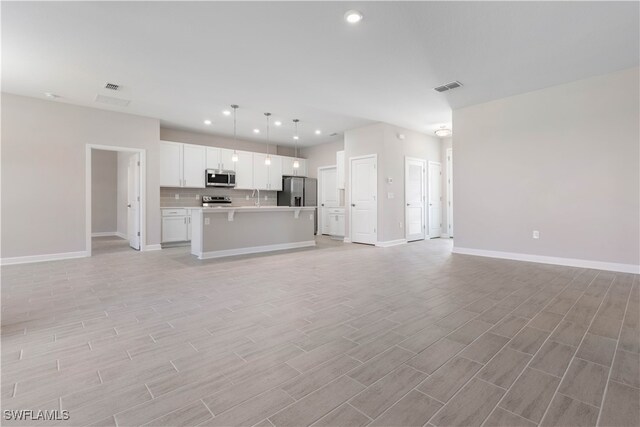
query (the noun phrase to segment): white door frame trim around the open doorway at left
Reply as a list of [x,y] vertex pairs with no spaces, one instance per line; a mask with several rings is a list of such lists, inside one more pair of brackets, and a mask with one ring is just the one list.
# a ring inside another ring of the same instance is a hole
[[100,144],[86,144],[85,145],[85,175],[84,175],[84,194],[85,194],[85,252],[86,256],[91,256],[91,155],[92,150],[105,150],[105,151],[124,151],[127,153],[140,154],[140,177],[138,183],[140,185],[140,251],[147,249],[147,182],[146,182],[146,164],[147,164],[147,150],[144,148],[132,148],[132,147],[119,147],[116,145],[100,145]]

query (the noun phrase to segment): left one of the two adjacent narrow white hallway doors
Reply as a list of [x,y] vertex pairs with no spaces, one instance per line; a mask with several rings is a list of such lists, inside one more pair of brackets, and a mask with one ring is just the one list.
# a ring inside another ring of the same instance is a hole
[[425,234],[425,161],[406,158],[404,164],[405,235],[408,242]]

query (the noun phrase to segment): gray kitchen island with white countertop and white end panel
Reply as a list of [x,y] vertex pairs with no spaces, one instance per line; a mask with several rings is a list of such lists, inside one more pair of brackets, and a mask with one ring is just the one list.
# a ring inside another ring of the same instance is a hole
[[315,246],[315,206],[191,208],[191,253],[198,259]]

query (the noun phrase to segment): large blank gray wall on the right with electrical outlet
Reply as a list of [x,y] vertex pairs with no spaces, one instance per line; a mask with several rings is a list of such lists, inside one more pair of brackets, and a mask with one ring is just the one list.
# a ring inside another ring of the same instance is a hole
[[455,110],[455,246],[637,265],[639,78],[633,68]]

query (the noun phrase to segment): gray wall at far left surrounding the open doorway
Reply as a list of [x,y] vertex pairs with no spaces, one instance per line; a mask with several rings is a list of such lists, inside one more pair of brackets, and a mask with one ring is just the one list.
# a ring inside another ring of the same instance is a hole
[[2,257],[85,248],[86,144],[146,149],[147,244],[160,243],[156,119],[2,94]]

